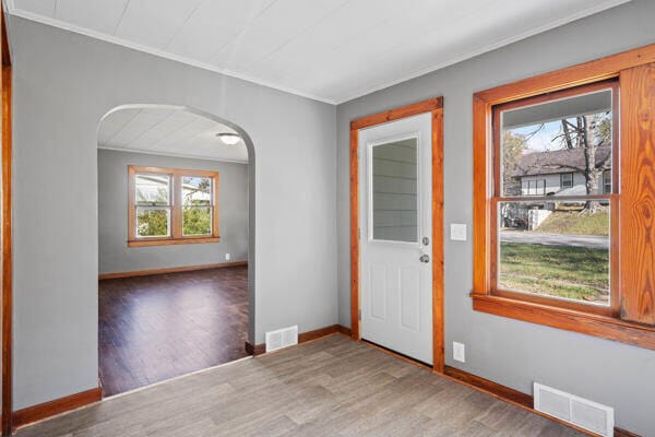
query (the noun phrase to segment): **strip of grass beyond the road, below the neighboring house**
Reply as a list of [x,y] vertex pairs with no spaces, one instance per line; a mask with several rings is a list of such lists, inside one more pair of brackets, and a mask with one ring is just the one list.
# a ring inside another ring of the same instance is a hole
[[534,232],[545,234],[609,235],[609,213],[594,214],[577,211],[555,211]]

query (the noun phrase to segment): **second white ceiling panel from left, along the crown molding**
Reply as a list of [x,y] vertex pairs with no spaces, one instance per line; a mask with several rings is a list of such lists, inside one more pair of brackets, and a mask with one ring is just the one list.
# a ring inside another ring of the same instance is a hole
[[129,0],[57,0],[55,17],[114,35]]

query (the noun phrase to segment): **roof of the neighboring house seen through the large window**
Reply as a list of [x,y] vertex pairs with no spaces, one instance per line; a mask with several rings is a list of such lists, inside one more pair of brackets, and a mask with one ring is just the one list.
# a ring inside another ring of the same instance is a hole
[[[596,150],[596,167],[610,157],[611,145],[600,145]],[[607,168],[611,162],[607,164]],[[558,173],[584,172],[584,149],[563,149],[552,152],[526,153],[519,157],[513,177],[552,175]]]

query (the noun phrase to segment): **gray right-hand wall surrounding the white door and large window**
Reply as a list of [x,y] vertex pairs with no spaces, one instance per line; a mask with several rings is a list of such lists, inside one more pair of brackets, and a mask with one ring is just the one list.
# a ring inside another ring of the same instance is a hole
[[[472,224],[475,91],[655,42],[655,2],[605,13],[426,74],[337,107],[340,322],[350,324],[348,122],[444,96],[444,221]],[[446,234],[448,235],[448,234]],[[655,351],[472,310],[472,241],[445,241],[446,363],[524,392],[541,381],[617,409],[620,427],[655,436]],[[452,341],[466,344],[453,362]]]

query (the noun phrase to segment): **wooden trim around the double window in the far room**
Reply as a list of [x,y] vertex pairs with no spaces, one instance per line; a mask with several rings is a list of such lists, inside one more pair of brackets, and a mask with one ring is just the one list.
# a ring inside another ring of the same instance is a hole
[[[170,237],[138,237],[136,205],[134,202],[135,176],[138,174],[169,175],[171,178],[172,200],[170,204]],[[182,235],[182,185],[183,176],[210,177],[212,187],[212,234],[199,236]],[[165,167],[128,166],[128,247],[148,247],[167,245],[189,245],[200,243],[218,243],[218,172],[194,170]]]

